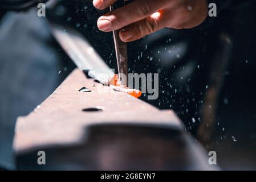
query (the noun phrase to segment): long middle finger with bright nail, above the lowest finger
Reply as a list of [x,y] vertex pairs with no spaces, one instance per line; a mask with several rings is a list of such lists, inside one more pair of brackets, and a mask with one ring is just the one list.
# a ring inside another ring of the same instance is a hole
[[136,0],[101,16],[97,21],[97,26],[99,30],[105,32],[119,30],[128,24],[147,18],[147,16],[168,6],[170,2],[172,0]]

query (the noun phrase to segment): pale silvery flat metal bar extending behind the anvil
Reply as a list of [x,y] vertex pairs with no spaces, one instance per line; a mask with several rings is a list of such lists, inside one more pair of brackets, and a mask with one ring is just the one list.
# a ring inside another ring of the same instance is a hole
[[101,59],[95,49],[80,32],[68,27],[50,23],[52,35],[63,50],[74,61],[76,66],[85,71],[88,76],[108,85],[114,76],[113,71]]

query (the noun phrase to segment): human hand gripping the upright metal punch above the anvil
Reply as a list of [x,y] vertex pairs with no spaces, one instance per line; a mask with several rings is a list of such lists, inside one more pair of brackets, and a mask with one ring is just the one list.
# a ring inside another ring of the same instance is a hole
[[[94,0],[97,9],[105,9],[117,0]],[[99,30],[119,32],[123,42],[131,42],[164,27],[193,28],[208,15],[207,0],[135,0],[97,20]]]

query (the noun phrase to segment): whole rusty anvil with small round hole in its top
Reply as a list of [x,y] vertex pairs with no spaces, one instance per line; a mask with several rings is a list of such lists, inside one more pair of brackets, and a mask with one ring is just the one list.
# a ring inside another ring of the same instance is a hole
[[[79,92],[85,86],[92,92]],[[100,106],[101,111],[83,111]],[[18,169],[213,169],[171,110],[103,86],[82,71],[17,121]],[[37,163],[38,151],[46,165]]]

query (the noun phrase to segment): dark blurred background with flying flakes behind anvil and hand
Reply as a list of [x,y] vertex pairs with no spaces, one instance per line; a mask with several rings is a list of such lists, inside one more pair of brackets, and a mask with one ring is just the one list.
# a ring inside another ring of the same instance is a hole
[[[0,14],[0,144],[6,146],[0,154],[11,147],[16,118],[29,114],[75,68],[48,20],[81,32],[117,69],[112,34],[96,27],[107,10],[82,0],[56,2],[47,18],[39,18],[36,8]],[[255,7],[247,1],[206,26],[165,28],[128,44],[129,73],[160,77],[159,98],[141,99],[173,109],[188,133],[206,150],[217,151],[222,169],[256,169]]]

